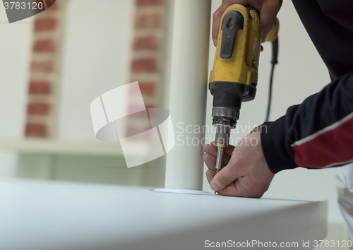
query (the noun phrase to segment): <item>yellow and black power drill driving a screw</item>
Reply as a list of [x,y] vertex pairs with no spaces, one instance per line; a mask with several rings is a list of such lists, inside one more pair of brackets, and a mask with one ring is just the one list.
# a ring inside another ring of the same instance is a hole
[[[266,41],[277,42],[278,27],[276,20]],[[229,6],[221,19],[209,84],[213,95],[213,126],[217,128],[216,173],[222,168],[230,131],[239,119],[241,102],[253,100],[256,95],[260,48],[261,23],[256,9],[240,4]],[[273,63],[277,64],[275,53]]]

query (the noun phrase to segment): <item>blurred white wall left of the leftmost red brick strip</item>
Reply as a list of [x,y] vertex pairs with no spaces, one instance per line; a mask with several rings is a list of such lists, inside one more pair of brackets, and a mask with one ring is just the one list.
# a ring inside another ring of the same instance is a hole
[[[23,138],[33,18],[8,23],[0,8],[0,140]],[[0,176],[16,174],[17,153],[0,151]]]

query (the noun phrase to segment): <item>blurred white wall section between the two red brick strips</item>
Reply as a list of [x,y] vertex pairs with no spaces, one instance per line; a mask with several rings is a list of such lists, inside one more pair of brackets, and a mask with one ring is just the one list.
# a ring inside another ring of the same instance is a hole
[[128,83],[134,1],[68,1],[58,138],[96,141],[90,103]]

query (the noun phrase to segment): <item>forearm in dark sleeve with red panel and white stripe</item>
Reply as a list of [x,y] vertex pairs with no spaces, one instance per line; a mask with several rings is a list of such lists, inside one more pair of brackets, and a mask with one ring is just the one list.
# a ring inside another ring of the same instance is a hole
[[261,141],[272,172],[353,161],[353,71],[265,123]]

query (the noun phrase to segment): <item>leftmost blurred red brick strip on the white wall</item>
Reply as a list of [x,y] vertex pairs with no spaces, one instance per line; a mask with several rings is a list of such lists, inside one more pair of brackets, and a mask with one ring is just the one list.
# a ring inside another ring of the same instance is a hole
[[56,103],[61,55],[61,23],[66,0],[37,14],[33,30],[25,137],[56,134]]

